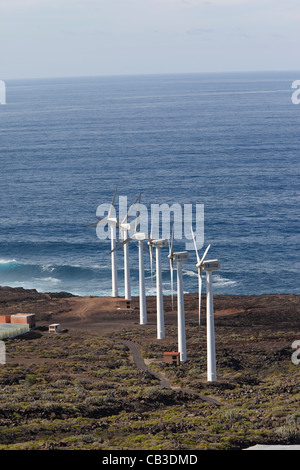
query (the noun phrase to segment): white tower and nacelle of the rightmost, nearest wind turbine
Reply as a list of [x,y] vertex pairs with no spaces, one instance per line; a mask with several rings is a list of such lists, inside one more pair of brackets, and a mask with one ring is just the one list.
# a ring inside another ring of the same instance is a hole
[[206,271],[207,380],[214,382],[217,380],[217,367],[212,272],[220,269],[220,263],[217,259],[204,261],[203,269]]

